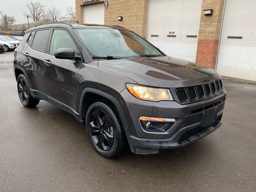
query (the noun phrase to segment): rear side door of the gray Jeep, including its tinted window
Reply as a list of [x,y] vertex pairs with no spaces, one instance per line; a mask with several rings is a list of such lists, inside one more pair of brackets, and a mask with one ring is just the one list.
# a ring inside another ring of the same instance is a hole
[[50,29],[44,29],[31,32],[27,42],[28,46],[22,50],[22,54],[27,58],[23,65],[27,71],[28,80],[32,89],[31,92],[42,98],[46,98],[43,58],[50,31]]

